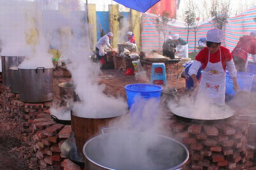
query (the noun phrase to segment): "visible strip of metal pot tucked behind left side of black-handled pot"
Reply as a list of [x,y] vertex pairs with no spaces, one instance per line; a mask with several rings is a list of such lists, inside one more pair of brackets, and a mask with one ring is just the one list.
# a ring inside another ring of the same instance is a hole
[[10,67],[11,76],[11,92],[14,94],[19,94],[19,73],[18,67]]

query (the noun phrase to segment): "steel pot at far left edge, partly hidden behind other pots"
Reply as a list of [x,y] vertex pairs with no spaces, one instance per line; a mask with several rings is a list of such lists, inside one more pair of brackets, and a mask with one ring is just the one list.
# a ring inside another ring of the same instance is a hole
[[17,67],[25,57],[22,56],[1,56],[3,85],[11,86],[10,67]]

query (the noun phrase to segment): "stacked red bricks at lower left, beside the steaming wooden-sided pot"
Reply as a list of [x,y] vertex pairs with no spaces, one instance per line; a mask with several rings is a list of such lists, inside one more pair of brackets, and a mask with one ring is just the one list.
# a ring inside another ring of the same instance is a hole
[[71,136],[71,125],[56,124],[50,114],[40,113],[33,122],[33,148],[40,169],[62,169],[60,147]]

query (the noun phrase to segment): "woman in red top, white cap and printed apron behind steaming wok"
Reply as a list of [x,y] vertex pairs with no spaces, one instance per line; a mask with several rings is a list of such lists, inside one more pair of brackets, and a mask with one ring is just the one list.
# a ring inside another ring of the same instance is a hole
[[[239,90],[237,83],[237,70],[229,49],[221,46],[222,31],[210,29],[207,32],[207,47],[196,56],[188,74],[194,81],[194,88],[198,89],[199,99],[209,99],[210,103],[225,104],[226,68],[233,80],[233,88]],[[197,71],[203,67],[201,81],[196,78]]]

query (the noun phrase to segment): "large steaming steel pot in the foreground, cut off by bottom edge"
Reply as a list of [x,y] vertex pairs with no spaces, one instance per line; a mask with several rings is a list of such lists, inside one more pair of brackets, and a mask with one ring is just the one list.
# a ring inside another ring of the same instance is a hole
[[118,132],[98,135],[85,143],[85,169],[180,169],[188,150],[158,134]]

